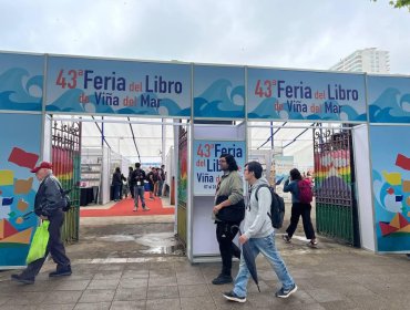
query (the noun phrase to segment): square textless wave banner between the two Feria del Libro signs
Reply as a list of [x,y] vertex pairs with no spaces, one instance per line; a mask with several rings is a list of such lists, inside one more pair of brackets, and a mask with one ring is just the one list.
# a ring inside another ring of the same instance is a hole
[[194,65],[194,117],[244,118],[245,69]]

